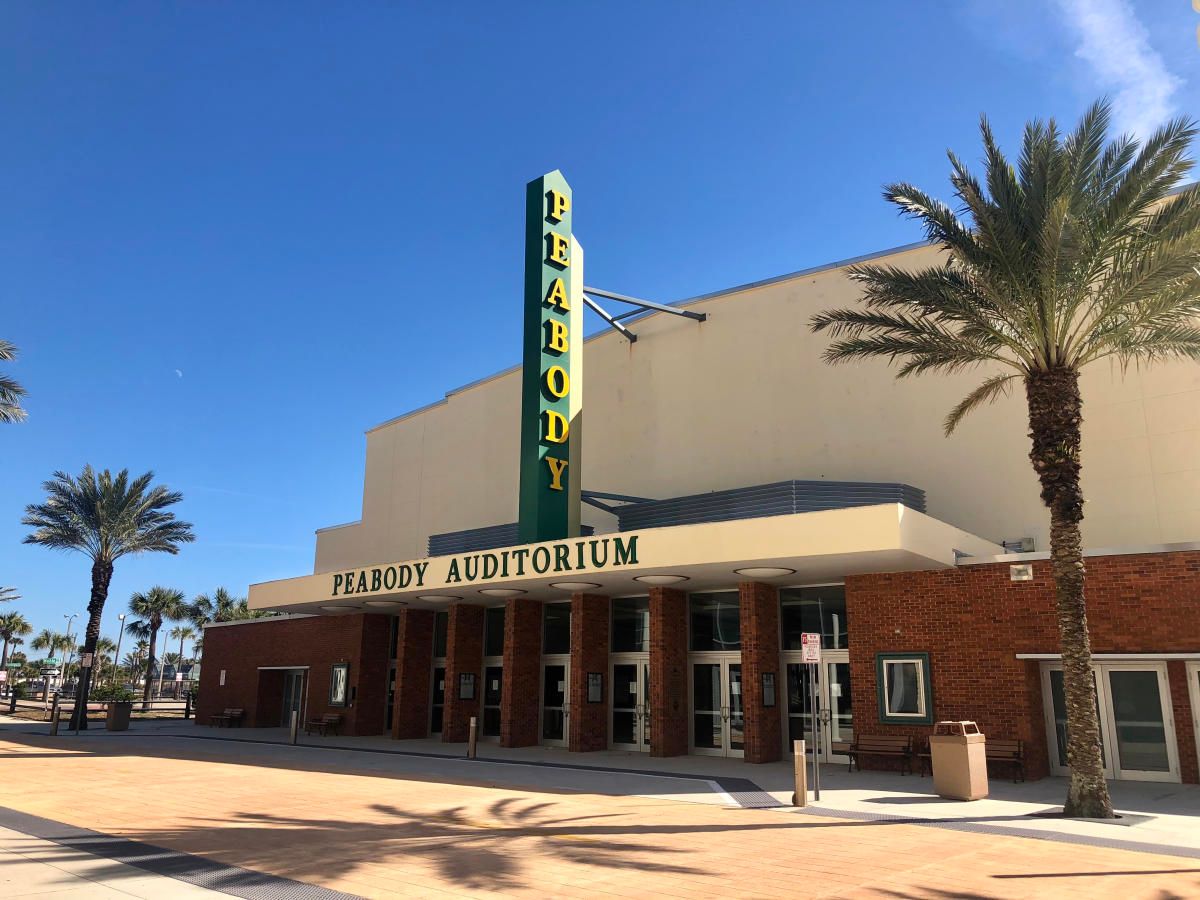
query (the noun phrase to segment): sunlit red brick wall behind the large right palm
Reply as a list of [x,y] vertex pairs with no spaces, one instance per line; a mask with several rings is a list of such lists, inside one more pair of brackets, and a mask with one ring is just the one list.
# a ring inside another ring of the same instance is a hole
[[[1087,616],[1093,653],[1200,650],[1200,552],[1088,557]],[[1049,760],[1039,666],[1018,653],[1057,653],[1049,562],[1033,581],[1009,564],[846,578],[854,731],[925,736],[928,726],[881,725],[875,655],[928,652],[934,718],[972,719],[985,733],[1026,742],[1031,778]],[[1181,774],[1198,780],[1182,666],[1169,667]]]

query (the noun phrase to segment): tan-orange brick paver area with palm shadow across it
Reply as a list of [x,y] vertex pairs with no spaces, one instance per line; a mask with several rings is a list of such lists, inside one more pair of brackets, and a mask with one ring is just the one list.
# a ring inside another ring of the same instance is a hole
[[1180,857],[355,770],[352,754],[0,740],[0,805],[365,896],[1200,896]]

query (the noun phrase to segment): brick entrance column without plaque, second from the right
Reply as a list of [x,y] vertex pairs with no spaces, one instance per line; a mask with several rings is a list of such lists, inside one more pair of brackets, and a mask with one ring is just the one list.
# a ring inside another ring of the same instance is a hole
[[688,752],[688,595],[650,588],[650,756]]

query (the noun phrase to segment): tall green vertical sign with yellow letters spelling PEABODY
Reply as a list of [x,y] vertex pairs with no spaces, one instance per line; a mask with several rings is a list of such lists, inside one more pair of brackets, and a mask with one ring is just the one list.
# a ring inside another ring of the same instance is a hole
[[580,533],[582,370],[583,248],[571,235],[571,187],[556,169],[526,187],[522,544]]

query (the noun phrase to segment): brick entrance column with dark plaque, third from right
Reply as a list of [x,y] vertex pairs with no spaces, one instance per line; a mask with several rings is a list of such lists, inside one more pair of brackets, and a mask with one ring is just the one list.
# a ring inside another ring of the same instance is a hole
[[[588,673],[600,672],[604,696],[588,703]],[[571,720],[568,749],[608,749],[608,598],[571,594]]]

